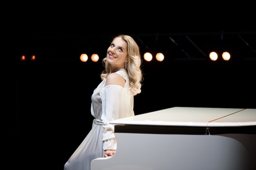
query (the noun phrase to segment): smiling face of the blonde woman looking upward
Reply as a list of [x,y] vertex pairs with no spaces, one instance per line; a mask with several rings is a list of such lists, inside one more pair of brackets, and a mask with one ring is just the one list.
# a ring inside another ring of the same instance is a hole
[[107,61],[111,68],[123,68],[127,61],[127,43],[121,37],[113,39],[110,47],[107,50]]

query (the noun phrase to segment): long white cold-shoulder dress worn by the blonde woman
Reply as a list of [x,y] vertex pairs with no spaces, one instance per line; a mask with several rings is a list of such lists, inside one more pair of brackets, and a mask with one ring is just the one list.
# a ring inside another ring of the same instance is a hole
[[103,80],[92,94],[92,129],[64,165],[64,170],[90,170],[93,159],[104,157],[104,150],[117,149],[112,120],[134,116],[134,96],[130,94],[126,70],[116,73],[126,80],[124,87],[107,85]]

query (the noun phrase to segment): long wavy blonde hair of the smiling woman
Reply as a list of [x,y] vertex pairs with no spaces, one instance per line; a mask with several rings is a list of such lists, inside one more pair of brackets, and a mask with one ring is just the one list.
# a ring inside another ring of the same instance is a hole
[[[132,95],[137,95],[141,92],[141,82],[143,80],[139,46],[135,40],[130,37],[130,35],[117,35],[116,37],[121,37],[128,45],[128,62],[126,71],[129,76],[130,92]],[[112,40],[116,37],[113,37]],[[101,80],[104,80],[110,73],[110,64],[107,61],[107,57],[102,60],[102,64],[105,66],[105,70],[101,72]]]

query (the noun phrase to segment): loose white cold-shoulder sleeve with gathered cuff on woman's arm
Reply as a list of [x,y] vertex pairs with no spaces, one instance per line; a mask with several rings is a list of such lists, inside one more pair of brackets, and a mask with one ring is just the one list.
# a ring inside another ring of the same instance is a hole
[[118,119],[120,113],[123,87],[120,85],[107,85],[102,88],[100,96],[102,100],[101,120],[104,125],[103,150],[117,149],[117,139],[114,134],[114,125],[109,122]]

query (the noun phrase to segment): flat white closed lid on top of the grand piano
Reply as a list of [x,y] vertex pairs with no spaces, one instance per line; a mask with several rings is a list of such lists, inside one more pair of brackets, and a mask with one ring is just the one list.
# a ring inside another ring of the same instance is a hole
[[256,125],[256,109],[171,107],[117,119],[110,124],[202,127],[254,126]]

